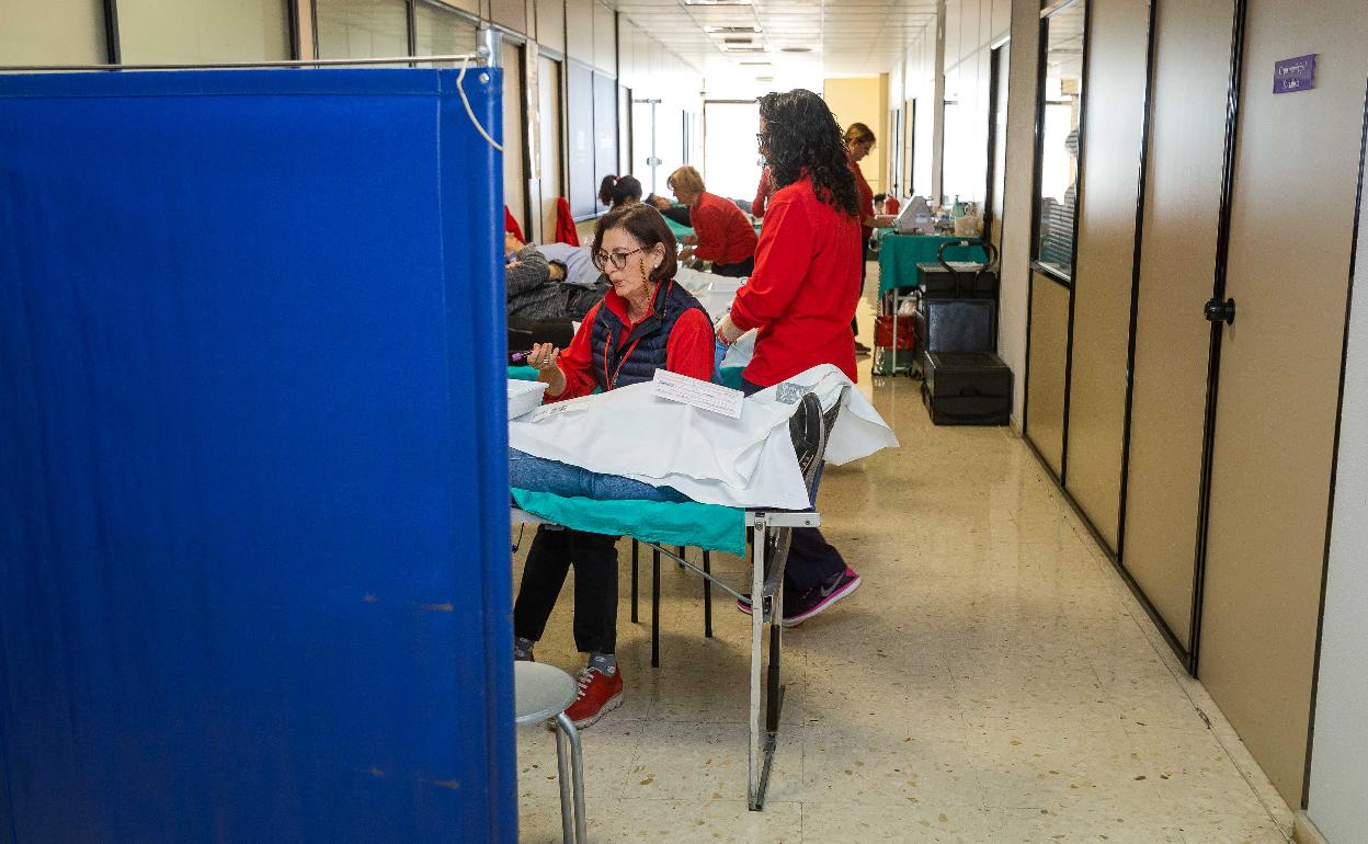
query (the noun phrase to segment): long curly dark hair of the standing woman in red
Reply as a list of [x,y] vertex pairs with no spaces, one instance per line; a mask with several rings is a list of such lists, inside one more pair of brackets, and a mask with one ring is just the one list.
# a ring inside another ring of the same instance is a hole
[[765,120],[761,152],[774,189],[813,176],[817,198],[852,217],[859,216],[855,175],[845,152],[845,135],[819,96],[802,88],[759,98]]

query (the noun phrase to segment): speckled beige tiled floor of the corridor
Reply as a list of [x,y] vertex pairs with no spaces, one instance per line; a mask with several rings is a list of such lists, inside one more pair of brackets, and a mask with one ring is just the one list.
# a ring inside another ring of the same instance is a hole
[[[650,569],[633,625],[622,543],[627,694],[583,733],[590,839],[1285,841],[1287,806],[1026,446],[933,427],[918,384],[870,379],[867,360],[860,379],[902,447],[822,482],[828,536],[865,584],[785,633],[765,811],[746,808],[747,618],[714,595],[705,639],[699,581],[663,565],[651,669]],[[746,580],[736,558],[714,566]],[[573,672],[569,622],[566,585],[536,652]],[[557,841],[551,736],[518,741],[521,840]]]

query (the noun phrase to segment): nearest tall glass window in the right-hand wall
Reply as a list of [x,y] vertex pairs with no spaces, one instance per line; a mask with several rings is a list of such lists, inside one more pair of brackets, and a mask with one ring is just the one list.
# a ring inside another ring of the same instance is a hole
[[1086,0],[1041,12],[1041,86],[1036,133],[1034,268],[1060,282],[1074,275]]

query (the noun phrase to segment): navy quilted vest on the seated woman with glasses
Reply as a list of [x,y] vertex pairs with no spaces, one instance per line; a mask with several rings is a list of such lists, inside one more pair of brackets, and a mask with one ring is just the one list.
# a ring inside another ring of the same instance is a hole
[[707,311],[703,311],[694,294],[673,280],[655,289],[654,305],[651,316],[637,323],[625,343],[620,338],[627,326],[606,304],[599,306],[594,332],[590,335],[590,350],[594,354],[594,379],[601,388],[611,390],[651,380],[657,369],[665,368],[666,346],[674,321],[691,308],[698,308],[707,317]]

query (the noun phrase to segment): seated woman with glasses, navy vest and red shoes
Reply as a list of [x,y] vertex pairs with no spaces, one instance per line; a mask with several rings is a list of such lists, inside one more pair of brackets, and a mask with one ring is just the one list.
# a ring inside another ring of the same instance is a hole
[[[651,380],[661,368],[710,380],[713,326],[698,300],[674,282],[674,235],[659,212],[639,202],[607,212],[594,230],[592,254],[611,285],[607,295],[584,316],[564,353],[538,343],[528,356],[538,380],[547,384],[546,399]],[[512,453],[514,464],[520,457],[528,456]],[[513,476],[518,473],[514,465]],[[614,655],[617,536],[538,528],[513,606],[514,657],[532,659],[532,646],[546,631],[570,566],[575,644],[590,657],[580,672],[579,698],[565,714],[576,726],[588,726],[622,702]]]

